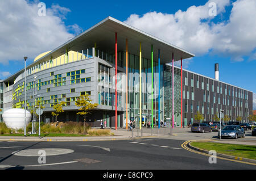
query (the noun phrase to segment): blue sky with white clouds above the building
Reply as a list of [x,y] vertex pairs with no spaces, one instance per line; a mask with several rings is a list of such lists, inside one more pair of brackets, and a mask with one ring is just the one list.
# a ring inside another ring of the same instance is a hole
[[[214,78],[214,64],[218,63],[220,81],[256,92],[256,22],[250,22],[256,18],[253,0],[42,0],[46,16],[36,17],[39,2],[0,2],[4,27],[0,30],[0,39],[4,39],[0,43],[0,79],[23,68],[23,54],[30,64],[36,54],[56,48],[76,32],[112,16],[194,53],[191,60],[184,60],[185,69]],[[205,13],[210,2],[216,3],[217,16]]]

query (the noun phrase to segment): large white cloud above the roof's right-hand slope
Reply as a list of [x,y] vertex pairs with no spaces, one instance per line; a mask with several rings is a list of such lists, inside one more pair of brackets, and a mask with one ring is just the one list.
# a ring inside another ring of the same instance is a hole
[[130,15],[125,23],[189,50],[196,56],[212,52],[242,61],[256,48],[256,1],[238,0],[232,3],[229,19],[214,23],[209,16],[210,2],[217,5],[217,14],[225,12],[229,0],[208,1],[204,6],[191,6],[175,14],[147,12]]

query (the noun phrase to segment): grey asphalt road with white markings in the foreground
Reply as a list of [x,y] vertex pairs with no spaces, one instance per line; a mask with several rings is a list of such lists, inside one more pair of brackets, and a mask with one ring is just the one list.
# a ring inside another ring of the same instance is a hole
[[[85,142],[0,141],[0,169],[256,169],[255,165],[223,159],[217,159],[216,164],[210,164],[208,156],[183,149],[181,147],[183,142],[169,138]],[[33,151],[31,149],[69,149],[72,153],[46,156],[46,163],[40,164],[38,162],[40,155],[34,157],[26,155],[29,151]],[[25,156],[15,155],[14,151]]]

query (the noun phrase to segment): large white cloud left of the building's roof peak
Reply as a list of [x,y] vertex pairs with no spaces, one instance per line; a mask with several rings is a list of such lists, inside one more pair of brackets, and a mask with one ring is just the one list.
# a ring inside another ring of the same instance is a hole
[[0,63],[24,56],[33,59],[73,37],[63,22],[70,10],[59,5],[46,7],[46,16],[39,16],[36,1],[0,1]]

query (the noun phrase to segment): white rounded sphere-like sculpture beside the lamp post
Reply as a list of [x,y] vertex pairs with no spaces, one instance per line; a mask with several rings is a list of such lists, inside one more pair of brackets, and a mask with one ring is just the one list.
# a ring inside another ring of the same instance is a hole
[[[3,112],[3,121],[8,128],[24,129],[25,111],[23,109],[10,109]],[[26,111],[26,125],[30,123],[31,113]]]

